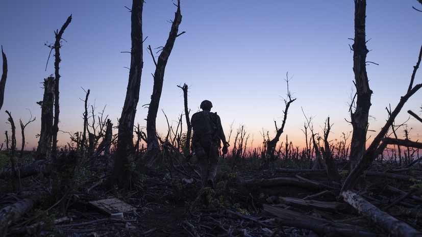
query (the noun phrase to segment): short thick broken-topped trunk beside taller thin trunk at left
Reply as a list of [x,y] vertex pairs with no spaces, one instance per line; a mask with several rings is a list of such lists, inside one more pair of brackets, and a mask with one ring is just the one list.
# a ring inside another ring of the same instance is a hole
[[49,76],[44,79],[44,96],[42,101],[37,102],[41,106],[41,131],[36,160],[46,159],[52,145],[54,87],[54,77]]

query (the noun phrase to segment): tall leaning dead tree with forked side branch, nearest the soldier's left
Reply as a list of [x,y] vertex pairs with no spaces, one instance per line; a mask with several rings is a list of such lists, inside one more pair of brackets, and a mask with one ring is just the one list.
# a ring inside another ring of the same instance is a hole
[[[173,45],[175,44],[176,37],[178,37],[179,25],[182,22],[182,15],[180,13],[180,0],[178,0],[177,11],[175,13],[175,19],[171,24],[170,34],[167,38],[167,42],[161,49],[160,56],[157,62],[154,59],[151,46],[149,47],[151,56],[153,57],[154,64],[156,66],[154,72],[154,87],[151,95],[151,102],[148,105],[148,115],[146,117],[146,135],[147,135],[147,147],[146,152],[143,154],[142,159],[138,163],[139,168],[151,167],[160,151],[160,144],[157,138],[156,119],[158,113],[158,107],[160,104],[161,92],[163,89],[164,81],[164,70],[170,56]],[[183,34],[182,32],[181,34]],[[181,35],[180,34],[180,35]]]

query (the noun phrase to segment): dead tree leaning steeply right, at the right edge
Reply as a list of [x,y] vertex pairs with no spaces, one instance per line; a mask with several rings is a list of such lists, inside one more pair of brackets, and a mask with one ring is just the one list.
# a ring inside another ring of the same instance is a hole
[[391,112],[391,115],[389,116],[384,126],[381,128],[377,137],[374,138],[374,141],[369,145],[365,153],[363,153],[362,158],[360,159],[357,166],[352,170],[349,176],[347,176],[346,180],[343,183],[343,187],[342,187],[343,191],[353,189],[359,179],[359,176],[363,174],[363,172],[365,172],[369,168],[369,166],[376,159],[378,154],[382,153],[382,151],[385,149],[387,144],[382,143],[380,145],[380,143],[385,137],[385,135],[387,134],[388,128],[394,122],[395,117],[397,117],[397,115],[400,113],[406,101],[422,87],[422,84],[417,84],[413,86],[414,77],[415,77],[417,69],[419,68],[421,58],[422,58],[422,46],[420,47],[419,57],[418,57],[416,66],[413,67],[413,74],[410,79],[410,85],[409,85],[409,89],[407,90],[407,93],[400,98],[399,103],[397,104],[395,109]]

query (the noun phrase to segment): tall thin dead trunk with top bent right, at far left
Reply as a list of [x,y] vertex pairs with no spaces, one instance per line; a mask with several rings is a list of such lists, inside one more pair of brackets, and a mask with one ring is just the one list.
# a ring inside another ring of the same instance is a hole
[[57,156],[57,133],[59,132],[59,64],[60,64],[60,40],[62,39],[62,35],[64,30],[66,29],[67,25],[69,25],[70,21],[72,20],[72,15],[70,15],[66,22],[63,24],[60,31],[56,30],[54,33],[56,35],[56,42],[54,43],[54,50],[55,50],[55,62],[54,62],[54,69],[55,69],[55,84],[54,84],[54,123],[53,123],[53,145],[52,145],[52,158],[56,160]]

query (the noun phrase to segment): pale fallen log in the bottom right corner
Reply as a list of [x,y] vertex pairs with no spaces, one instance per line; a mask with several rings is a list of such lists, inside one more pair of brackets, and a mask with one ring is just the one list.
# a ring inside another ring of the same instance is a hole
[[398,237],[422,237],[422,232],[388,215],[356,193],[347,190],[342,192],[341,196],[343,196],[344,201],[352,205],[359,214],[369,218],[386,232]]

